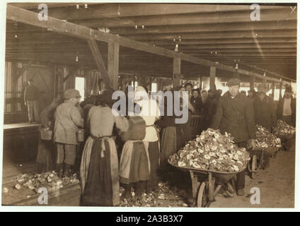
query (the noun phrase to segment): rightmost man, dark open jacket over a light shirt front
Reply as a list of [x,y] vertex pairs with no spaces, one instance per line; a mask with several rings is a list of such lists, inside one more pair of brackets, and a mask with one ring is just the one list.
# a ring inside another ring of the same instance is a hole
[[292,86],[285,88],[284,96],[277,105],[277,117],[292,126],[296,125],[296,99],[292,96]]

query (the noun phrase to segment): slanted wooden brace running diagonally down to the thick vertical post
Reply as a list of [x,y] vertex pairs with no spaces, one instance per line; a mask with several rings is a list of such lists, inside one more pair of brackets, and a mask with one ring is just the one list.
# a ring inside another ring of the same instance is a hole
[[108,76],[108,71],[106,70],[106,67],[104,65],[104,62],[103,62],[103,59],[101,57],[101,54],[100,54],[100,51],[98,49],[98,45],[97,45],[96,41],[93,40],[93,39],[88,40],[88,46],[91,49],[91,52],[93,54],[93,58],[96,61],[99,73],[103,77],[103,81],[104,81],[106,87],[111,88],[112,85],[111,85],[110,77]]

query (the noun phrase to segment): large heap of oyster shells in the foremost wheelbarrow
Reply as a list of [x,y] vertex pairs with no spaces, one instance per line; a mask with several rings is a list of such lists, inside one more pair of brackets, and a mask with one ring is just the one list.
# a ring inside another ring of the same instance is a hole
[[169,160],[179,167],[238,172],[245,169],[250,156],[246,148],[238,148],[233,143],[230,133],[222,135],[219,130],[209,128]]

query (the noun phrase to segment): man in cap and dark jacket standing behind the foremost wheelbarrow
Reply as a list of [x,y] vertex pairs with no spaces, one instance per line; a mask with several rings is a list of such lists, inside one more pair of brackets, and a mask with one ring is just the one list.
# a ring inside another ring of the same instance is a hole
[[[253,102],[239,93],[240,80],[231,79],[227,86],[229,92],[219,98],[217,112],[214,115],[212,129],[220,129],[231,133],[234,143],[240,148],[247,147],[250,139],[251,147],[255,148],[255,124]],[[236,187],[238,196],[243,196],[245,187],[245,172],[236,176]]]

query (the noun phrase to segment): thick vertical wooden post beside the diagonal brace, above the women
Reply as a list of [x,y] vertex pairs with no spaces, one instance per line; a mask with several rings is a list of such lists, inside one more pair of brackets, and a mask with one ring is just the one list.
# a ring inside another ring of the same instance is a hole
[[117,90],[119,80],[119,49],[118,43],[108,43],[108,76],[110,76],[114,90]]

